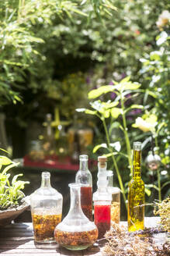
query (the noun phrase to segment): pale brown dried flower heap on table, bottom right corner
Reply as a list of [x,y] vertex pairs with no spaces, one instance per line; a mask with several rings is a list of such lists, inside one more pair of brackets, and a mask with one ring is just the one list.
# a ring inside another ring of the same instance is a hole
[[128,233],[127,228],[113,224],[113,229],[106,233],[107,243],[102,254],[107,256],[167,256],[170,244],[156,245],[151,237]]

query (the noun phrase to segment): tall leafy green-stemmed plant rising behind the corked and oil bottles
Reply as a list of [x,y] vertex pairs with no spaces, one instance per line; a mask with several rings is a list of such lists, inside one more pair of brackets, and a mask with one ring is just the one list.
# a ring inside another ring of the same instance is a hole
[[[99,148],[106,148],[106,150],[109,151],[109,154],[107,154],[107,156],[113,159],[113,165],[116,169],[116,174],[120,183],[120,189],[123,193],[123,200],[126,204],[127,198],[126,198],[125,189],[123,186],[123,180],[122,180],[122,176],[120,174],[118,165],[116,163],[115,156],[120,154],[120,155],[123,155],[124,157],[127,157],[130,173],[132,173],[131,148],[130,148],[130,139],[128,136],[126,115],[133,108],[144,108],[144,107],[142,105],[134,105],[134,104],[130,105],[128,108],[125,107],[125,102],[127,101],[127,97],[126,97],[127,94],[130,94],[131,98],[133,98],[133,94],[136,93],[136,90],[141,86],[140,84],[131,82],[130,76],[127,76],[126,78],[121,80],[120,83],[117,83],[116,81],[113,81],[113,83],[114,85],[101,86],[88,93],[89,99],[99,98],[104,94],[107,94],[110,92],[115,93],[116,99],[113,102],[112,101],[104,102],[101,100],[97,100],[97,101],[90,102],[90,105],[93,108],[92,110],[87,108],[78,108],[77,111],[85,112],[86,114],[89,114],[89,115],[98,116],[99,119],[102,121],[102,125],[106,133],[106,144],[99,144],[95,146],[95,148],[93,149],[93,152],[99,150]],[[120,107],[118,107],[118,104],[120,104]],[[119,116],[121,116],[120,119],[118,119]],[[106,126],[106,119],[109,119],[110,117],[112,117],[114,121],[117,119],[119,122],[120,129],[123,131],[126,145],[127,145],[127,155],[124,155],[123,153],[120,152],[120,142],[117,141],[116,143],[112,143],[109,137],[109,130]]]

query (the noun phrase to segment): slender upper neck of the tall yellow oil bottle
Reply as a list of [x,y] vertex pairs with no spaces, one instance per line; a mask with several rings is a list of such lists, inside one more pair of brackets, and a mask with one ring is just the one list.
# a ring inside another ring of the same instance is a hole
[[141,150],[134,150],[133,178],[141,179]]

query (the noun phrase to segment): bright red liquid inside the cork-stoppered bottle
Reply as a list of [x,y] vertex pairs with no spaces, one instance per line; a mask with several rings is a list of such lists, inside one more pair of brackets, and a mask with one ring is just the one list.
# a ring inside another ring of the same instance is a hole
[[95,205],[95,225],[98,228],[99,236],[102,238],[110,229],[110,205]]

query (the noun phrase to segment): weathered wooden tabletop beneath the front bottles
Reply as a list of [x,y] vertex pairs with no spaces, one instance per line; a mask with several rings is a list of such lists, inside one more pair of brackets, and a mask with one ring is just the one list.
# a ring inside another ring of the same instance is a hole
[[[145,226],[155,227],[158,221],[158,217],[147,217],[145,218]],[[127,224],[126,222],[122,223]],[[89,247],[84,251],[68,251],[58,246],[38,249],[34,244],[33,224],[30,222],[12,223],[0,228],[0,254],[4,256],[102,256],[101,248],[98,246]]]

